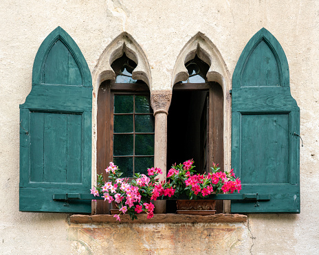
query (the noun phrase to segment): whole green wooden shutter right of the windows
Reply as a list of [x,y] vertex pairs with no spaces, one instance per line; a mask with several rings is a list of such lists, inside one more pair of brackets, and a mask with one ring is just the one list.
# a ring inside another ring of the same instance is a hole
[[232,76],[232,167],[241,193],[269,194],[270,201],[232,201],[232,212],[300,213],[299,132],[285,52],[263,28]]

